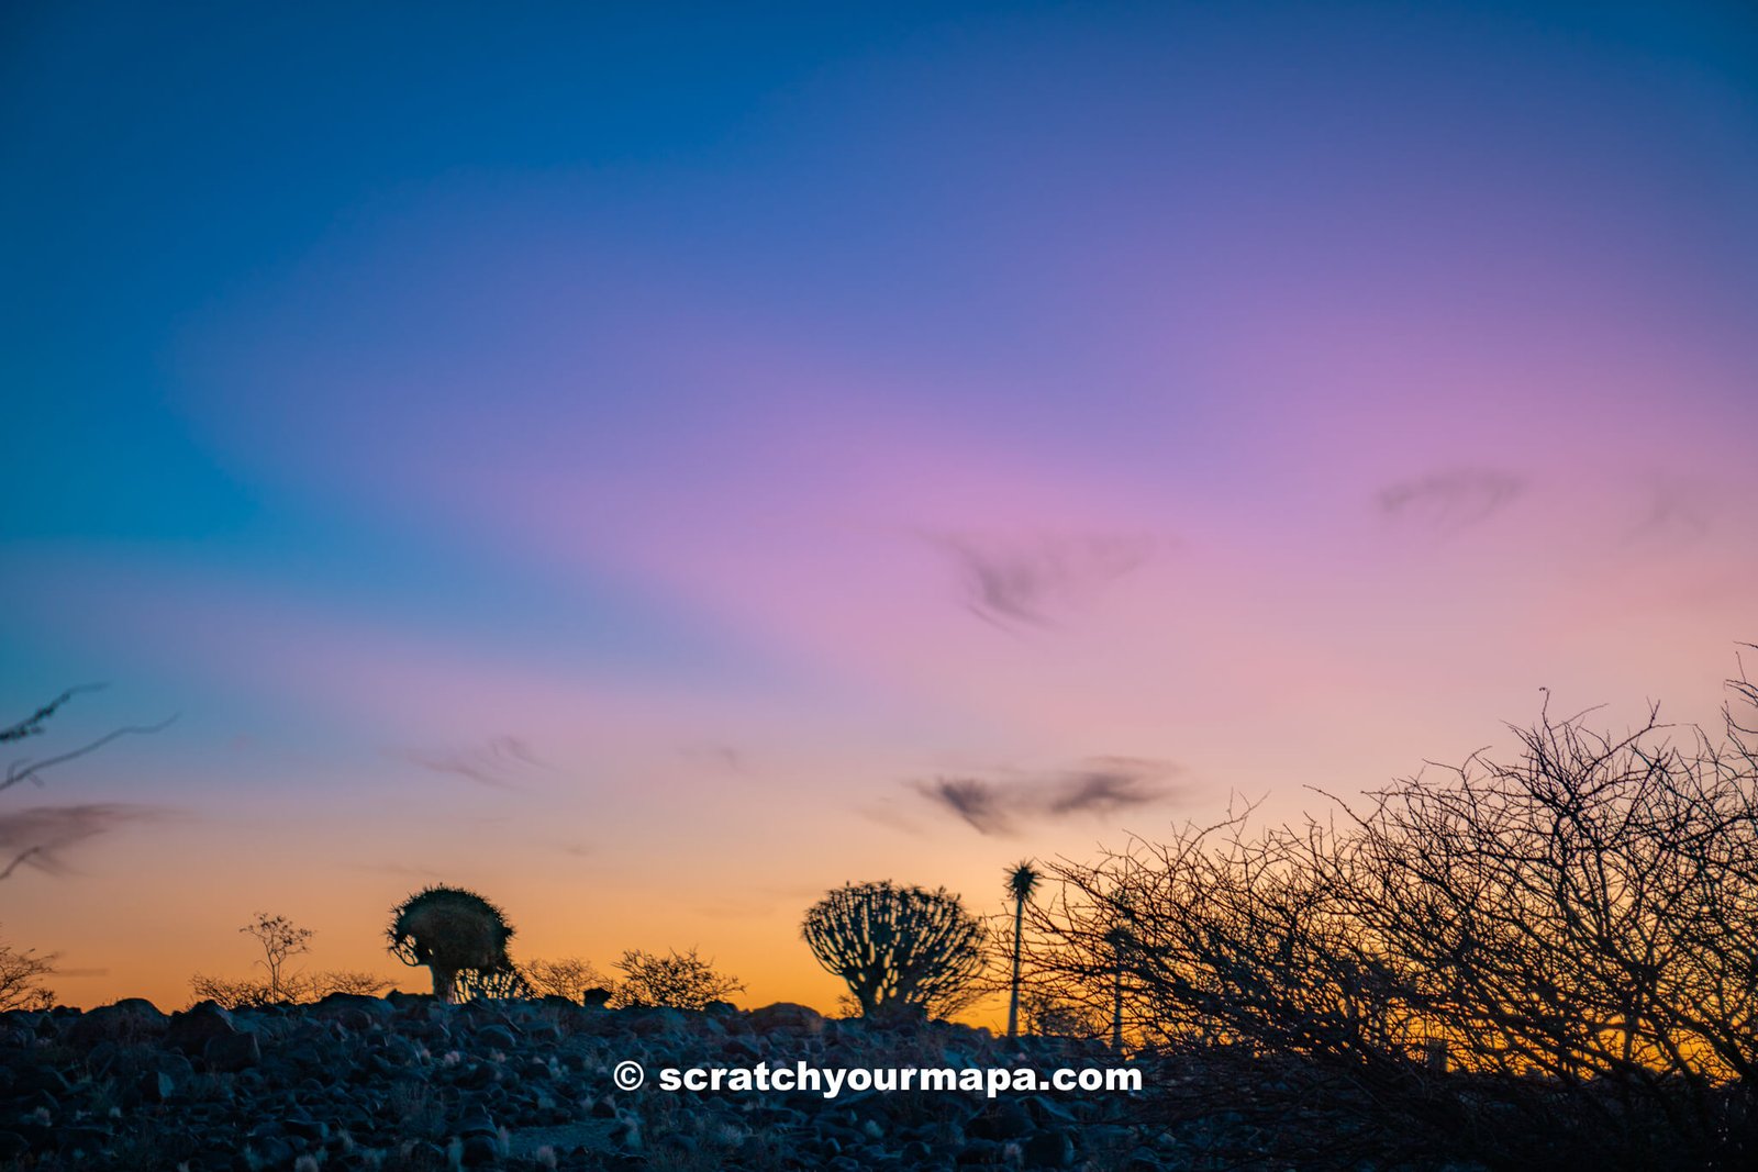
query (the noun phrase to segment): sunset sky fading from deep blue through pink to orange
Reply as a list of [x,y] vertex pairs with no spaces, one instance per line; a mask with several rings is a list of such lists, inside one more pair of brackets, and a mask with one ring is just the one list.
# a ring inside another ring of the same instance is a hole
[[[1758,640],[1744,4],[0,16],[16,756],[69,1003],[698,945],[1296,817]],[[44,808],[79,807],[72,814]],[[58,836],[56,836],[58,835]],[[51,845],[53,845],[51,843]]]

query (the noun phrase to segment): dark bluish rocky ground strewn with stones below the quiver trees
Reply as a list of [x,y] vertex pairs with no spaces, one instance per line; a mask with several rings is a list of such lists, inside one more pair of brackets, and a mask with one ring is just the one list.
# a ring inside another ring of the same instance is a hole
[[[647,1084],[621,1091],[636,1060]],[[1127,1093],[665,1091],[661,1067],[1108,1067],[1102,1049],[800,1005],[427,996],[0,1014],[0,1168],[1178,1167]]]

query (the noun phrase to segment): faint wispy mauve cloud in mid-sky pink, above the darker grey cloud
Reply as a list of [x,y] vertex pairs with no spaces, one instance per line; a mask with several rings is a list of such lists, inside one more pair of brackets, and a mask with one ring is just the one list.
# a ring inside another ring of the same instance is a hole
[[965,606],[997,626],[1053,626],[1167,545],[1153,534],[925,532],[958,573]]

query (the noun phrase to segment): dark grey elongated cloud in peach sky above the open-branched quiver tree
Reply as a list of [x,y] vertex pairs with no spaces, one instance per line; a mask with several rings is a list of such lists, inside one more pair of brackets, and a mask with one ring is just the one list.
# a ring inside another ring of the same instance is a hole
[[942,812],[983,835],[1006,835],[1021,822],[1115,815],[1176,798],[1178,766],[1144,757],[1092,757],[1067,770],[937,777],[911,787]]

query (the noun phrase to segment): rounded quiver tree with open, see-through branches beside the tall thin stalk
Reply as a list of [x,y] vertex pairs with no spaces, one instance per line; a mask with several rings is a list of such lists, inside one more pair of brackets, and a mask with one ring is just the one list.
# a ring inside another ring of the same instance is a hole
[[983,924],[944,887],[847,884],[812,905],[802,931],[863,1017],[944,1014],[986,961]]

